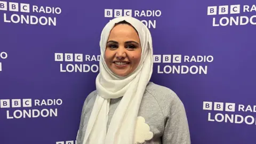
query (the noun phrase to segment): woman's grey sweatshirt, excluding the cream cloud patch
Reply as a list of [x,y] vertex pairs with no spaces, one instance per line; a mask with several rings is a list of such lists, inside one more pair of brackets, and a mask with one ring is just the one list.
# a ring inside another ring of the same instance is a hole
[[[77,144],[82,144],[84,139],[96,95],[97,91],[93,91],[84,101]],[[110,100],[107,127],[121,99],[122,97]],[[153,139],[143,144],[190,144],[185,108],[177,94],[169,88],[149,82],[142,97],[138,116],[145,118],[145,123],[154,134]]]

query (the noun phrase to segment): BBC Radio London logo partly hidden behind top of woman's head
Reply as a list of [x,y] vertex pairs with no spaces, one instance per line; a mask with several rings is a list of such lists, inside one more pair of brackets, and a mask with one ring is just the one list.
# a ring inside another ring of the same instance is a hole
[[134,18],[146,18],[150,20],[141,20],[149,29],[156,28],[156,18],[161,17],[161,10],[130,10],[130,9],[105,9],[105,18],[117,18],[122,16],[134,17]]

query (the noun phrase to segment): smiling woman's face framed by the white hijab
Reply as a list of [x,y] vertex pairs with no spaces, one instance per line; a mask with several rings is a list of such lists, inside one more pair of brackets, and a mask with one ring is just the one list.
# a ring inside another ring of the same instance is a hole
[[118,76],[131,74],[139,65],[141,45],[137,31],[130,25],[116,25],[109,34],[105,61]]

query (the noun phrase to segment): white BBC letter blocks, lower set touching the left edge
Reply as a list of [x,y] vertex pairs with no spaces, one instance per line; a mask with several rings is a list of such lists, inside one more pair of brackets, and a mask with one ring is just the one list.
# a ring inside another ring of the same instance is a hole
[[32,100],[31,99],[2,99],[0,100],[0,108],[20,108],[22,104],[22,107],[32,107]]

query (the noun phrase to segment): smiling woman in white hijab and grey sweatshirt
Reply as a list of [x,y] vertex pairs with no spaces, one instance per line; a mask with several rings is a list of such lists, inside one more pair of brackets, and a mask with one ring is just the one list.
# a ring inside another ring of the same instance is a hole
[[149,82],[153,46],[148,28],[132,17],[107,23],[100,39],[97,90],[83,106],[78,144],[190,143],[182,102]]

